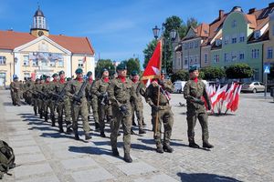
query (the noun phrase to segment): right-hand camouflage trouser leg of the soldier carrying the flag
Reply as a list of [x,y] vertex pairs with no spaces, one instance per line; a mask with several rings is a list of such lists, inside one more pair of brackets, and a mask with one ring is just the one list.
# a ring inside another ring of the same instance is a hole
[[171,109],[167,109],[163,116],[163,146],[170,145],[170,138],[172,136],[172,130],[174,126],[174,114]]

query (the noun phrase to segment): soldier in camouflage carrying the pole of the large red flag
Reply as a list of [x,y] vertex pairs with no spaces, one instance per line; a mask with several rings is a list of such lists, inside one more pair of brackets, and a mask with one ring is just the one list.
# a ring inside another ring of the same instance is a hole
[[[160,91],[160,92],[159,92]],[[152,84],[146,88],[146,102],[152,106],[154,140],[156,143],[156,151],[158,153],[172,153],[174,149],[170,147],[170,138],[172,136],[172,128],[174,125],[174,114],[169,104],[169,93],[174,91],[174,86],[170,80],[164,80],[162,72],[160,79],[154,79]],[[160,96],[158,94],[160,93]],[[159,98],[159,100],[158,100]],[[159,103],[159,106],[158,106]],[[158,125],[155,126],[158,114]],[[161,140],[161,127],[163,124],[163,145]]]

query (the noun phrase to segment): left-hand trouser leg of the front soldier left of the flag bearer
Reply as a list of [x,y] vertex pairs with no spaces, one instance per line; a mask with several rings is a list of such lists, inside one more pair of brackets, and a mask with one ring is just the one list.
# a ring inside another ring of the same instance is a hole
[[112,107],[112,111],[114,117],[111,122],[111,148],[113,150],[117,148],[117,136],[121,125],[121,112],[116,107]]

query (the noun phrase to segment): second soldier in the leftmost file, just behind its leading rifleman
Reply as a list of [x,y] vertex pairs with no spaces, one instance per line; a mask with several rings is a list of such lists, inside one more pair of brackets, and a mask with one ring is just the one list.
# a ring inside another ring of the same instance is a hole
[[71,99],[69,95],[69,83],[70,81],[65,80],[65,72],[60,71],[59,72],[59,80],[56,85],[55,91],[56,94],[59,95],[62,91],[64,91],[64,96],[63,98],[59,99],[57,103],[57,111],[58,111],[58,126],[59,126],[59,132],[63,133],[63,113],[65,111],[65,121],[66,121],[66,126],[67,126],[67,134],[72,133],[72,123],[71,123]]

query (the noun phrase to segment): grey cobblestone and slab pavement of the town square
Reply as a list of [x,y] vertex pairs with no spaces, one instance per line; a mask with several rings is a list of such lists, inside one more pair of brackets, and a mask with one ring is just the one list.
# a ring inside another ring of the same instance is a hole
[[[132,136],[133,162],[128,164],[111,156],[109,138],[93,132],[85,143],[58,134],[30,106],[12,106],[9,92],[0,91],[0,138],[14,148],[17,165],[3,181],[274,181],[273,99],[243,94],[235,114],[209,116],[209,141],[215,146],[210,151],[187,147],[186,108],[179,102],[185,103],[183,96],[173,95],[174,153],[155,152],[151,109],[145,104],[147,134]],[[201,145],[198,123],[195,132]]]

